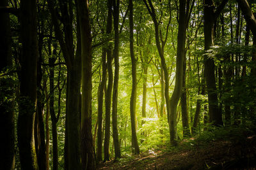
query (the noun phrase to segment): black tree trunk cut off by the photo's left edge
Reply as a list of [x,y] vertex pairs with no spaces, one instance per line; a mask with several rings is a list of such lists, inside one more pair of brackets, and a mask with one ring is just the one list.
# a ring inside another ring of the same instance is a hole
[[[8,6],[8,1],[0,1],[0,6]],[[10,17],[8,13],[0,13],[0,72],[12,67],[12,43],[10,32]],[[3,158],[0,160],[0,169],[14,169],[15,166],[15,124],[12,78],[0,80],[0,133],[2,144],[0,146]],[[7,97],[7,100],[4,99]]]

